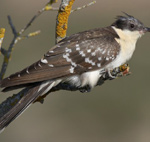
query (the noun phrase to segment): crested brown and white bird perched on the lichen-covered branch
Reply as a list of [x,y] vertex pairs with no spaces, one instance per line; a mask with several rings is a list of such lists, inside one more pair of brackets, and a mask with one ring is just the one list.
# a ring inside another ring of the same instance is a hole
[[[133,55],[137,40],[150,28],[124,13],[104,28],[73,34],[52,47],[44,56],[27,68],[0,81],[3,91],[28,87],[26,98],[8,115],[0,119],[0,130],[27,109],[36,99],[59,84],[71,85],[85,92],[96,85],[104,72],[126,63]],[[87,88],[87,90],[86,90]]]

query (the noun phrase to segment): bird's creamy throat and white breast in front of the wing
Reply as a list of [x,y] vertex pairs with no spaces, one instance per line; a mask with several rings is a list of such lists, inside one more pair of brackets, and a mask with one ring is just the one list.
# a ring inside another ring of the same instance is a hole
[[114,69],[126,63],[132,57],[136,47],[136,42],[138,38],[141,37],[141,34],[138,31],[122,31],[115,27],[113,28],[120,37],[116,38],[115,40],[118,42],[121,48],[119,55],[106,67],[107,69]]

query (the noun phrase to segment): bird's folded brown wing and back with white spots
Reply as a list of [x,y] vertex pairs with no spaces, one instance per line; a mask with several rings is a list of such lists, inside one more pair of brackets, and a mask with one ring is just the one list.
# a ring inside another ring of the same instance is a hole
[[103,68],[120,51],[115,38],[119,37],[111,27],[67,37],[38,62],[2,80],[1,87],[54,80]]

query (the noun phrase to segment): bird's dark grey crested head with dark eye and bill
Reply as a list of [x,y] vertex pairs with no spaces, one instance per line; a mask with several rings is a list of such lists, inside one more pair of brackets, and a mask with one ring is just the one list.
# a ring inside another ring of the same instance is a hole
[[146,32],[150,32],[150,28],[144,26],[144,24],[138,19],[131,15],[124,13],[125,16],[118,16],[117,20],[112,24],[112,26],[123,33],[138,39]]

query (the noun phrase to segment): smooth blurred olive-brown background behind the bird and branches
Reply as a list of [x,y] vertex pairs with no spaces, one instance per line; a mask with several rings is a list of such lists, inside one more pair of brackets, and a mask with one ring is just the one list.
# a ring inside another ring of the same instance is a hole
[[[3,47],[13,38],[7,15],[16,29],[23,28],[48,0],[1,0],[0,27],[6,28]],[[76,0],[73,8],[91,0]],[[55,7],[58,7],[55,4]],[[149,0],[97,0],[95,5],[74,12],[68,34],[105,27],[122,11],[150,26]],[[45,12],[25,32],[41,30],[39,36],[20,41],[13,51],[5,76],[40,59],[55,43],[57,12]],[[36,103],[0,135],[1,142],[150,142],[150,33],[137,43],[129,62],[132,75],[96,87],[91,93],[51,93],[43,105]],[[0,66],[3,57],[0,56]],[[9,95],[0,93],[0,102]]]

